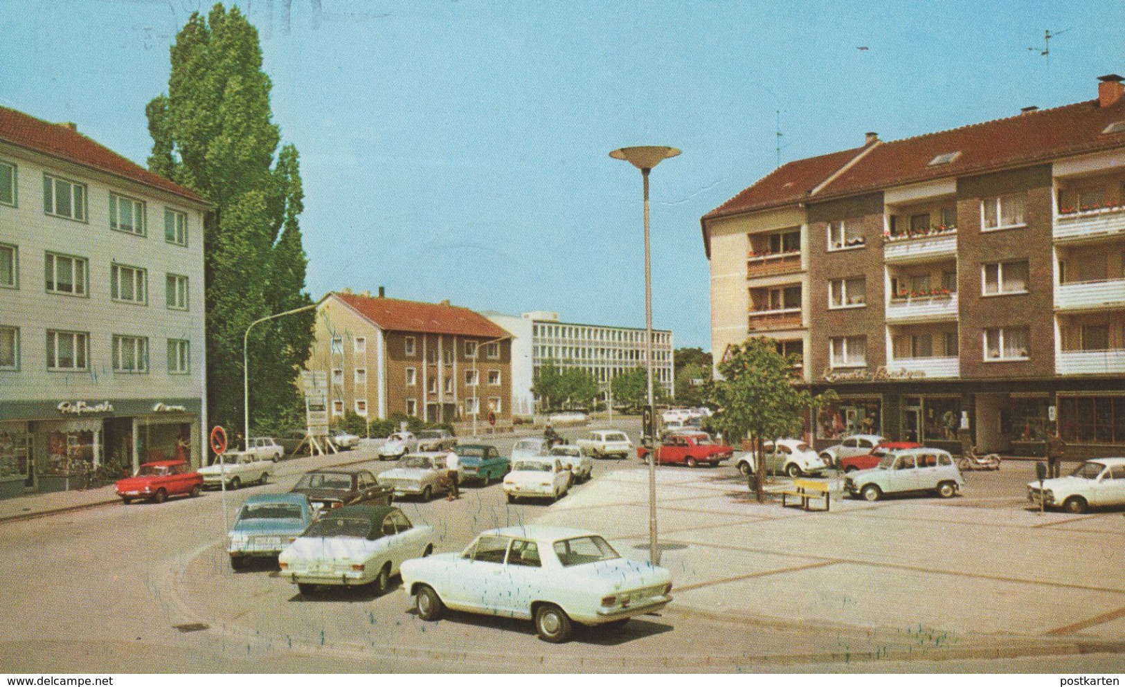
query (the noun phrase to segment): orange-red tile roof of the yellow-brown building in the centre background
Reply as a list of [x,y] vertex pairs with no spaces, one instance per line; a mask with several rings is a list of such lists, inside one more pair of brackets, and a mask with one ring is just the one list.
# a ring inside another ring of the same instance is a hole
[[488,338],[510,338],[508,332],[484,315],[447,302],[418,302],[395,298],[372,298],[357,293],[333,292],[353,310],[382,329],[424,334],[457,334]]

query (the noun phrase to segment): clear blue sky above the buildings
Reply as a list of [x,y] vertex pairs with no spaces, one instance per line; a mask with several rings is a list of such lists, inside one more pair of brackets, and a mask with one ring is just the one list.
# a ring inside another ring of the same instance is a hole
[[[1090,100],[1125,74],[1122,0],[236,4],[302,155],[314,298],[385,286],[644,326],[640,172],[608,154],[670,145],[651,177],[655,326],[704,350],[699,219],[774,169],[778,142],[784,163]],[[209,7],[0,0],[0,105],[144,164],[168,48]]]

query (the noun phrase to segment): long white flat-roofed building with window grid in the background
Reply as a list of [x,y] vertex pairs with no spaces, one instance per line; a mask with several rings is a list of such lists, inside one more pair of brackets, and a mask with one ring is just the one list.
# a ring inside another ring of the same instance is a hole
[[[601,400],[606,399],[612,378],[645,368],[644,328],[566,323],[549,310],[484,315],[513,336],[512,406],[516,414],[530,415],[538,409],[531,386],[536,370],[543,364],[588,372],[603,385]],[[672,332],[652,329],[652,381],[664,386],[669,396],[675,395],[672,351]]]

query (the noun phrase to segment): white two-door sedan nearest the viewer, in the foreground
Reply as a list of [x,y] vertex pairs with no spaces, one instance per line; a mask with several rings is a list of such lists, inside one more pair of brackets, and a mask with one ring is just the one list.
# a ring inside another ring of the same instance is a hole
[[403,563],[403,587],[418,617],[446,608],[533,620],[548,642],[565,642],[574,624],[620,626],[672,600],[672,575],[629,561],[598,534],[523,525],[482,532],[465,551]]

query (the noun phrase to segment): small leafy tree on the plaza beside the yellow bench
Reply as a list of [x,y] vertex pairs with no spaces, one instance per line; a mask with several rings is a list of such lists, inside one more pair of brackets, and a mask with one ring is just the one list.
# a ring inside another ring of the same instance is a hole
[[799,435],[806,413],[835,397],[831,391],[813,397],[798,389],[792,374],[796,362],[796,356],[778,353],[772,340],[755,336],[719,363],[722,379],[711,386],[711,403],[719,412],[710,418],[710,426],[721,431],[728,442],[749,437],[755,446],[754,479],[759,501],[765,476],[763,442]]

